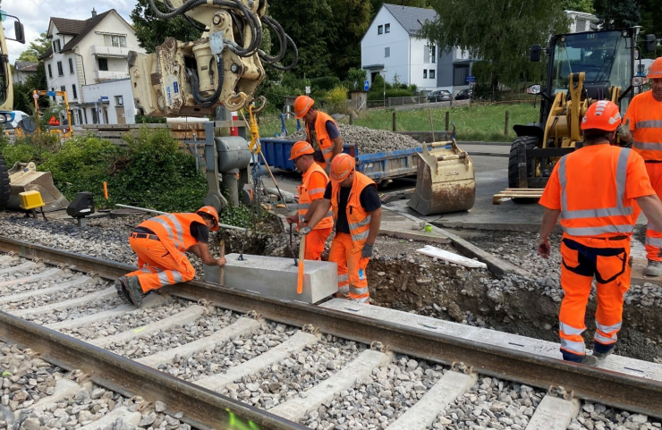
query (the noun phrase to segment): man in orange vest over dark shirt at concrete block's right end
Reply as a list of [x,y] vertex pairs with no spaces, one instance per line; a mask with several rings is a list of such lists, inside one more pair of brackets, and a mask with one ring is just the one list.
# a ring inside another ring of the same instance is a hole
[[338,265],[337,296],[368,303],[366,267],[377,240],[382,209],[377,185],[368,176],[356,172],[355,165],[352,156],[335,156],[324,199],[315,208],[310,222],[301,224],[300,232],[309,234],[327,217],[328,210],[333,209],[335,237],[328,261]]

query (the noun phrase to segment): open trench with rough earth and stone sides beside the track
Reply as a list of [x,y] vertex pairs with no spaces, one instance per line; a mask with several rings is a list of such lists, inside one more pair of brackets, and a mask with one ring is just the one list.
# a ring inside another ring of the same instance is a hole
[[[270,232],[244,238],[242,233],[225,233],[226,253],[291,257],[288,234],[278,232],[276,222]],[[495,232],[491,232],[495,233]],[[499,233],[496,232],[499,240]],[[293,238],[294,253],[297,238]],[[243,243],[245,242],[245,243]],[[489,241],[474,244],[488,249]],[[434,261],[415,252],[425,245],[458,252],[452,245],[416,240],[397,240],[379,236],[376,256],[368,266],[370,296],[373,304],[405,312],[432,316],[447,321],[484,326],[505,333],[516,333],[545,341],[558,341],[560,296],[552,297],[545,288],[549,280],[525,280],[506,277],[501,280],[485,269]],[[325,258],[326,256],[323,256]],[[472,256],[467,256],[472,257]],[[527,266],[522,263],[521,266]],[[662,312],[660,299],[632,297],[624,306],[624,325],[618,334],[619,355],[662,362]],[[595,330],[596,299],[591,296],[585,333],[587,347],[592,348]]]

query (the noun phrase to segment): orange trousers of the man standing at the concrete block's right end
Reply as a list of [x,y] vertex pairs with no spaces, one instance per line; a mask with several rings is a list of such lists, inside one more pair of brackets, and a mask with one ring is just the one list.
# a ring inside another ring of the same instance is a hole
[[354,244],[350,234],[335,232],[328,261],[338,265],[337,297],[358,303],[368,303],[370,293],[366,267],[370,259],[361,257],[361,250],[352,252],[353,248]]

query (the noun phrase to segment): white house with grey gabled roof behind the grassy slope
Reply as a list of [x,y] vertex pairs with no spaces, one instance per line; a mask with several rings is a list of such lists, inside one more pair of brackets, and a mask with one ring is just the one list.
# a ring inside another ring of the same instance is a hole
[[382,4],[361,39],[361,68],[370,85],[378,73],[386,81],[415,84],[421,90],[469,88],[471,58],[459,48],[446,54],[443,47],[419,37],[425,21],[436,21],[432,9]]

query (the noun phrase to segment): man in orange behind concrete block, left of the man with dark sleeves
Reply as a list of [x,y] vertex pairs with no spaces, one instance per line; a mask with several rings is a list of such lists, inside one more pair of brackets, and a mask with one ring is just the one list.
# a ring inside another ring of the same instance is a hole
[[[296,214],[287,217],[288,223],[297,225],[309,223],[315,213],[319,202],[324,198],[327,190],[328,176],[322,167],[315,163],[313,154],[315,150],[308,142],[296,142],[292,146],[290,160],[293,160],[296,170],[303,173],[301,185],[299,186],[299,208]],[[327,243],[328,235],[334,226],[333,213],[329,210],[327,216],[315,226],[306,237],[306,249],[304,258],[307,260],[321,260],[324,245]]]

